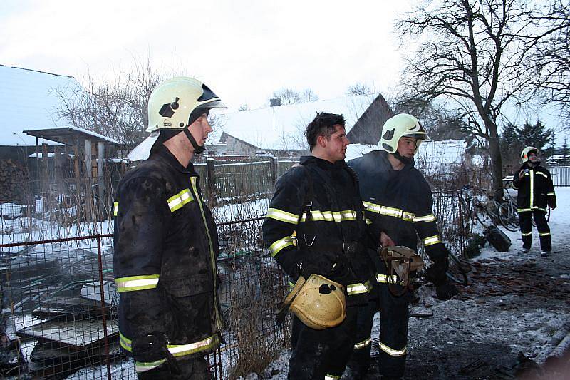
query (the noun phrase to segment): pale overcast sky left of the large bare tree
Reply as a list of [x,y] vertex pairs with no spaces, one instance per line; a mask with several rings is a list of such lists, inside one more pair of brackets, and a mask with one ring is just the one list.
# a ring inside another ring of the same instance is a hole
[[231,108],[289,86],[320,98],[356,82],[390,92],[400,1],[1,0],[0,63],[113,76],[133,61],[207,83]]

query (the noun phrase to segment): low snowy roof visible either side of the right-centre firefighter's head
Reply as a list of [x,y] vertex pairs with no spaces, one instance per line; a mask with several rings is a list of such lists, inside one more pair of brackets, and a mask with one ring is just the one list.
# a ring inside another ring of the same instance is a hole
[[[346,148],[346,161],[358,158],[371,150],[380,150],[378,145],[351,144]],[[415,161],[423,166],[437,163],[438,165],[461,163],[467,150],[465,140],[424,141],[420,145]]]

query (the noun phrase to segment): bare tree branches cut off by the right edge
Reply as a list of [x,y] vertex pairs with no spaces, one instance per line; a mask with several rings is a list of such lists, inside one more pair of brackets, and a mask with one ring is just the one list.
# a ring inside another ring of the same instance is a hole
[[[534,54],[537,67],[535,86],[542,103],[558,103],[561,115],[570,117],[570,4],[554,0],[544,19],[549,22],[548,36]],[[570,127],[566,126],[566,129]]]

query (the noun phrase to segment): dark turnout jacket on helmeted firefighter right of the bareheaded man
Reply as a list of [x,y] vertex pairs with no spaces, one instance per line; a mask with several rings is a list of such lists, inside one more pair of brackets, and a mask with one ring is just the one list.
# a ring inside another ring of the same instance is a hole
[[360,179],[361,197],[366,206],[366,222],[371,248],[380,245],[385,232],[396,245],[418,250],[418,237],[434,262],[437,285],[445,282],[447,249],[437,231],[430,186],[410,163],[394,170],[387,152],[375,150],[348,162]]

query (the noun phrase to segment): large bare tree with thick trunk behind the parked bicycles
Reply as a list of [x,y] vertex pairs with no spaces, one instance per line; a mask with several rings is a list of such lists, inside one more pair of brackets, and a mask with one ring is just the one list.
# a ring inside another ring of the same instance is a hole
[[396,29],[403,41],[419,41],[406,60],[405,91],[460,112],[489,151],[499,188],[502,110],[507,103],[527,103],[534,79],[526,66],[541,32],[534,9],[526,0],[428,1],[397,21]]

